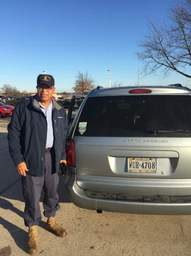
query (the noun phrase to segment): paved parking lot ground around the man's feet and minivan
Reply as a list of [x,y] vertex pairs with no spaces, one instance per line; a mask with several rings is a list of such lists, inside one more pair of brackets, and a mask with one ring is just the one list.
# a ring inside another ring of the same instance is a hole
[[[24,201],[20,176],[8,153],[7,124],[0,120],[0,255],[27,255],[27,228],[23,223]],[[57,220],[67,230],[66,239],[38,227],[37,255],[58,256],[190,256],[191,217],[152,216],[85,210],[70,203],[64,177],[58,186],[61,209]],[[41,198],[42,209],[42,198]],[[43,212],[43,209],[42,209]]]

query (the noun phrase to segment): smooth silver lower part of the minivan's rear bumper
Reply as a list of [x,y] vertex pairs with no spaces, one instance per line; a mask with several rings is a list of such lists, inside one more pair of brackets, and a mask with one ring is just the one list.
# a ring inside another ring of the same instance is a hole
[[133,201],[106,200],[88,197],[78,186],[76,174],[67,172],[66,190],[70,200],[78,207],[106,212],[149,215],[190,215],[191,203],[140,203]]

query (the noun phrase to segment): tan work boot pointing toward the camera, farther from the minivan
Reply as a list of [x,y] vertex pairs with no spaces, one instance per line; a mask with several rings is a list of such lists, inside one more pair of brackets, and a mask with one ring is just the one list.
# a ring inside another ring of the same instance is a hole
[[28,254],[36,254],[38,250],[37,244],[37,228],[36,226],[29,227],[29,233],[27,237],[27,251]]

